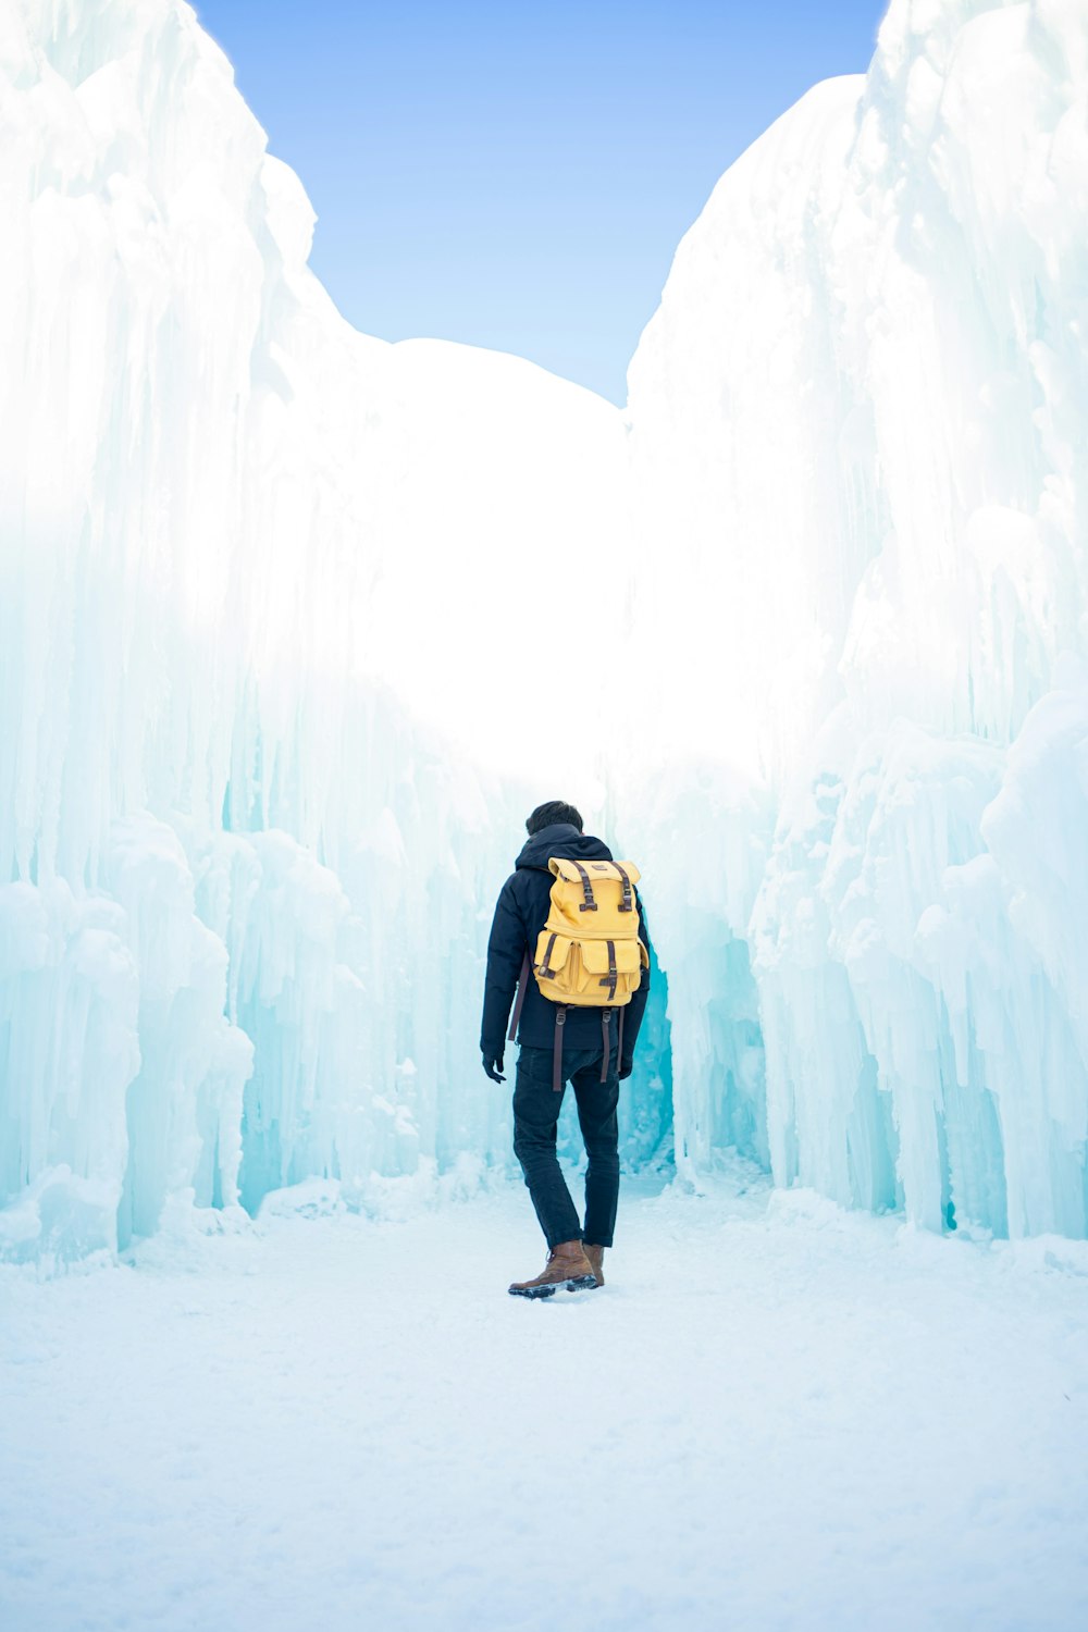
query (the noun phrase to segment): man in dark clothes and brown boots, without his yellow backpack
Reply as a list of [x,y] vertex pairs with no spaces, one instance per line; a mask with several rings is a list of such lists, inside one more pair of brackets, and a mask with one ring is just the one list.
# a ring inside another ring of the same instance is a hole
[[[548,917],[553,883],[548,858],[555,855],[582,863],[612,862],[612,852],[600,839],[582,832],[582,818],[573,805],[564,805],[561,800],[538,805],[525,829],[529,840],[512,876],[502,886],[488,942],[480,1048],[483,1069],[493,1082],[506,1080],[502,1053],[514,989],[525,955],[533,958],[537,953],[537,938]],[[638,896],[636,906],[639,938],[649,951],[646,919]],[[568,1291],[604,1286],[604,1253],[612,1245],[620,1193],[617,1147],[620,1082],[631,1075],[648,992],[649,969],[643,969],[638,991],[633,992],[630,1004],[618,1010],[623,1013],[623,1028],[608,1025],[613,1013],[608,1012],[605,1017],[600,1007],[568,1009],[561,1031],[561,1056],[558,1056],[561,1066],[556,1067],[556,1004],[542,996],[532,976],[525,981],[517,1028],[520,1054],[514,1087],[514,1154],[522,1164],[525,1185],[548,1242],[548,1262],[533,1279],[515,1281],[511,1286],[515,1296],[546,1297],[559,1286],[566,1286]],[[607,1069],[604,1069],[605,1038]],[[574,1089],[577,1120],[586,1141],[584,1226],[579,1222],[555,1152],[556,1123],[568,1082]]]

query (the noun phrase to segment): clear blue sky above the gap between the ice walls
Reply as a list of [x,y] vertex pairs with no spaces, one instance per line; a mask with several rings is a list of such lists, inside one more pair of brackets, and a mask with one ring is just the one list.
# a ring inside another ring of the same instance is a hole
[[318,212],[312,264],[385,339],[532,357],[625,401],[675,246],[884,0],[197,0]]

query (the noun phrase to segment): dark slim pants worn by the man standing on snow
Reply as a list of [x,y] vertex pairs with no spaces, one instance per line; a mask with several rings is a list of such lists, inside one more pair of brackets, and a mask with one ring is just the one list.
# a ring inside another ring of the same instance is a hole
[[608,1075],[600,1080],[604,1049],[577,1048],[563,1054],[563,1077],[574,1089],[577,1120],[586,1141],[586,1227],[577,1217],[555,1154],[555,1129],[563,1093],[551,1087],[551,1049],[522,1046],[514,1084],[514,1154],[522,1164],[548,1247],[587,1240],[610,1247],[620,1195],[617,1105],[620,1082],[615,1046]]

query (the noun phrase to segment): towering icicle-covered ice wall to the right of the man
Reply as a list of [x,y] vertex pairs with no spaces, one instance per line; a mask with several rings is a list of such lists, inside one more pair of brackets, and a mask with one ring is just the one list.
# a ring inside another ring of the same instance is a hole
[[[1085,1232],[1086,243],[1085,7],[894,0],[723,178],[630,370],[636,509],[683,540],[644,638],[773,813],[763,854],[734,796],[700,824],[775,1178],[935,1229]],[[734,1040],[670,994],[703,1155]]]

